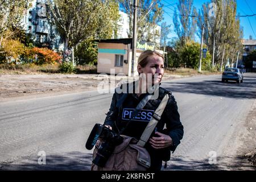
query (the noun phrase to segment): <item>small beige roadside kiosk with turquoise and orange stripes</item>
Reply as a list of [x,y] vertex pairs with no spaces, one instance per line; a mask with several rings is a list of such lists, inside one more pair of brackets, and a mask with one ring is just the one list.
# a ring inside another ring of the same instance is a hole
[[[155,49],[154,43],[137,43],[137,60],[134,64],[134,75],[131,73],[132,60],[132,40],[133,39],[107,39],[97,40],[98,42],[98,73],[125,74],[127,76],[137,76],[138,57],[146,49]],[[163,54],[163,51],[158,51]]]

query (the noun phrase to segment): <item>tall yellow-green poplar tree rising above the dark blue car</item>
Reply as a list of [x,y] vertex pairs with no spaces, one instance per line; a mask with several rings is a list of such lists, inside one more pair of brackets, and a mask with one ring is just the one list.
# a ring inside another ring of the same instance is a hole
[[[210,12],[214,7],[212,15]],[[220,64],[220,68],[225,60],[234,57],[234,52],[241,49],[243,32],[239,16],[236,18],[236,9],[235,0],[212,0],[204,3],[198,13],[199,36],[201,38],[201,27],[204,26],[204,43],[214,57],[213,63]]]

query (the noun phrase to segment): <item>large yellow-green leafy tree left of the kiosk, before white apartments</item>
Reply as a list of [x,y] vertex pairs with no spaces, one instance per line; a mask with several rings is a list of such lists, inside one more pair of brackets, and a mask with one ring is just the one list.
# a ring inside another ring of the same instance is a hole
[[113,35],[113,24],[119,19],[114,0],[55,0],[53,4],[48,0],[48,4],[49,17],[64,41],[65,61],[82,41]]

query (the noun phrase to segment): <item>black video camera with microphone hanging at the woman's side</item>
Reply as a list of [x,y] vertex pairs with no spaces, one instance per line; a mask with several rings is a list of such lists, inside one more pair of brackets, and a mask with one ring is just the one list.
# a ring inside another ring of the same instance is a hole
[[108,127],[97,123],[92,129],[85,147],[88,150],[92,150],[98,138],[101,138],[104,142],[101,144],[100,148],[98,148],[96,157],[92,162],[97,166],[104,167],[110,155],[113,153],[115,146],[123,142],[123,137],[113,130],[110,130]]

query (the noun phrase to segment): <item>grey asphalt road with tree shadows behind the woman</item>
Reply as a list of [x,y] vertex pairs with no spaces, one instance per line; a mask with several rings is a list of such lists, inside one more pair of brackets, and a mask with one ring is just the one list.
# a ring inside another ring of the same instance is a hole
[[[215,75],[162,86],[174,94],[184,125],[167,170],[250,169],[237,150],[256,98],[256,74],[245,73],[240,85]],[[89,170],[92,151],[85,142],[94,124],[104,121],[111,98],[91,91],[2,102],[0,169]],[[38,163],[44,163],[42,154],[46,164]]]

